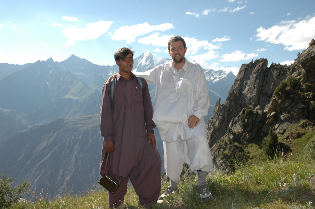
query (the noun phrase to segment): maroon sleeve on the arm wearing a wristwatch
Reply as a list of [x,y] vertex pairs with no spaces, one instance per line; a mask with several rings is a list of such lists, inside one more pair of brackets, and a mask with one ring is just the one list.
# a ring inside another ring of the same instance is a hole
[[149,131],[149,130],[154,129],[156,126],[152,120],[153,107],[152,107],[149,87],[148,87],[148,84],[146,83],[146,80],[144,79],[143,79],[143,84],[144,84],[144,88],[143,88],[144,120],[146,122],[146,130]]

